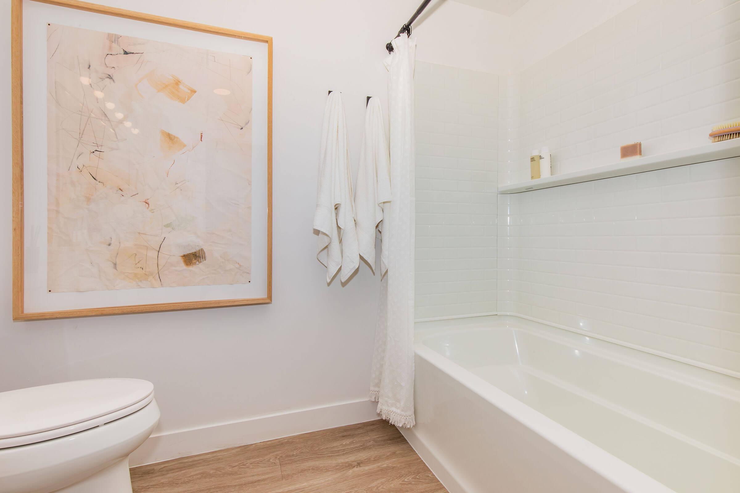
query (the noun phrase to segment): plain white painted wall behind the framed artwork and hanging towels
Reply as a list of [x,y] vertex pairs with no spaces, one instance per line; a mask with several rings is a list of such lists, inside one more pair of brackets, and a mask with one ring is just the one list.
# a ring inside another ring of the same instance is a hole
[[[346,287],[336,280],[326,287],[325,273],[315,259],[311,225],[320,119],[326,91],[342,91],[356,166],[365,96],[385,100],[385,44],[418,1],[106,3],[273,36],[274,302],[180,313],[11,322],[7,261],[0,267],[4,279],[0,391],[81,378],[146,378],[155,384],[162,410],[157,433],[366,399],[378,279],[363,265]],[[490,69],[490,61],[484,66],[482,56],[455,56],[460,46],[488,39],[482,24],[468,29],[469,18],[461,16],[456,5],[426,16],[416,31],[419,58]],[[0,1],[0,13],[7,22],[10,0]],[[1,34],[6,49],[0,52],[0,72],[5,74],[0,86],[0,147],[7,163],[0,185],[4,197],[10,197],[7,27]],[[1,204],[0,229],[6,231],[0,254],[10,259],[10,200]],[[357,414],[358,419],[365,415]]]

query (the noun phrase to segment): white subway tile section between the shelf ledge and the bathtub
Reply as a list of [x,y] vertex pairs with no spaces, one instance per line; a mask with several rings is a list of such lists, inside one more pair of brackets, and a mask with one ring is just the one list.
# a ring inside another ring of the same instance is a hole
[[740,372],[740,157],[501,194],[498,245],[500,312]]

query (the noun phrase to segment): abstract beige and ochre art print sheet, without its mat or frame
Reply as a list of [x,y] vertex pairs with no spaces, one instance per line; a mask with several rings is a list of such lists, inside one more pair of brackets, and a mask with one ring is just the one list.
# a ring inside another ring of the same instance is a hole
[[252,57],[47,27],[47,289],[252,268]]

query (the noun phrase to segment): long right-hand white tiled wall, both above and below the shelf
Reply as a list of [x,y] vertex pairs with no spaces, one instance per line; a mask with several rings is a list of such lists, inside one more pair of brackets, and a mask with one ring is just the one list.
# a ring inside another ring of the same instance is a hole
[[[740,119],[740,1],[543,1],[512,18],[543,29],[499,84],[499,184],[544,145],[562,174]],[[499,196],[499,311],[739,371],[738,164]]]

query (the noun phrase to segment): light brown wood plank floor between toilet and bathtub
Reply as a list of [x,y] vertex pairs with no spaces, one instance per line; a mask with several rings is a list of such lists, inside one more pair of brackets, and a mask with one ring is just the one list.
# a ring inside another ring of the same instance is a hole
[[139,466],[131,482],[134,493],[447,493],[381,420]]

